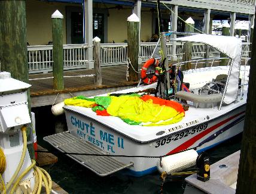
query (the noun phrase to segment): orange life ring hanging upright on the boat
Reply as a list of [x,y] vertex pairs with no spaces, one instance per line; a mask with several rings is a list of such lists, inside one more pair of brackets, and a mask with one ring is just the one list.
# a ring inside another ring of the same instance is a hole
[[148,61],[146,61],[145,64],[143,65],[143,67],[141,69],[141,80],[147,84],[154,83],[159,78],[159,71],[157,71],[156,69],[154,70],[153,76],[151,76],[151,75],[148,76],[147,70],[148,70],[148,67],[150,67],[151,65],[154,65],[155,68],[158,67],[159,60],[151,58]]

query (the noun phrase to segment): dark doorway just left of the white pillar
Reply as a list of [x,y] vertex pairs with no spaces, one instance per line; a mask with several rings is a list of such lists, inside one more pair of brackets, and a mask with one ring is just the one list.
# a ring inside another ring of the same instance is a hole
[[83,43],[83,12],[71,12],[71,43]]

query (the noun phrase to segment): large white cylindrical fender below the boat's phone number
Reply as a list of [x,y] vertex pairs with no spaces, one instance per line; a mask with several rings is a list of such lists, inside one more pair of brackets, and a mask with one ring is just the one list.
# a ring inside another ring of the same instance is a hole
[[198,154],[194,149],[179,154],[169,155],[168,157],[161,159],[161,165],[160,159],[157,161],[157,170],[159,170],[160,173],[166,171],[167,174],[184,170],[185,168],[196,165],[197,156]]

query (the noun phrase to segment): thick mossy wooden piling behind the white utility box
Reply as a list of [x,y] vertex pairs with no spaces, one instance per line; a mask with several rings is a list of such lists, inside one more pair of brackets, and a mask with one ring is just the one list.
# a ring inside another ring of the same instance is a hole
[[[1,71],[8,71],[11,77],[22,82],[29,82],[28,48],[26,30],[26,1],[0,1],[0,58]],[[29,113],[31,98],[28,90]],[[32,131],[26,131],[28,142]],[[29,155],[35,158],[33,143],[28,143]]]

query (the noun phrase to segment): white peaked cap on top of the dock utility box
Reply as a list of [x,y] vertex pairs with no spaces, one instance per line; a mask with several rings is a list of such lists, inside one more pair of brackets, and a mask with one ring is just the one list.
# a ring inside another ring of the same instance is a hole
[[0,95],[8,93],[17,93],[27,90],[31,85],[25,82],[11,78],[11,73],[0,72]]

